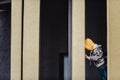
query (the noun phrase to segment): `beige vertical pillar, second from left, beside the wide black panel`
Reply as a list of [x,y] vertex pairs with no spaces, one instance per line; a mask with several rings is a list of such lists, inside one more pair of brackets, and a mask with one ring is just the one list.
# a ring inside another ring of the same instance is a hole
[[23,80],[39,78],[40,0],[24,0]]

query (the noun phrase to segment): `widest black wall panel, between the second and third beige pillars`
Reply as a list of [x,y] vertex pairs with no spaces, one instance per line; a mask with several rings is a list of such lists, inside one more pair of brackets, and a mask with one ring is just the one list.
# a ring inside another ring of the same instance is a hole
[[67,0],[41,0],[40,80],[59,80],[59,55],[68,52]]

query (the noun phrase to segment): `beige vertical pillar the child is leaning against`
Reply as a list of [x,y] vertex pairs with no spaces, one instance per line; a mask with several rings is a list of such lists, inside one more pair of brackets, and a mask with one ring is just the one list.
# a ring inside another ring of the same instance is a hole
[[72,80],[85,80],[85,1],[72,1]]

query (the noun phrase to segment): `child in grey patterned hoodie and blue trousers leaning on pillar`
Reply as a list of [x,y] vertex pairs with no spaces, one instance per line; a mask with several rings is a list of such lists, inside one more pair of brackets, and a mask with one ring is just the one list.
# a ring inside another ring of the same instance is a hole
[[90,51],[90,56],[85,55],[85,58],[94,63],[101,75],[101,80],[107,80],[107,73],[105,70],[105,61],[103,58],[103,51],[101,45],[95,44],[90,38],[85,40],[85,49]]

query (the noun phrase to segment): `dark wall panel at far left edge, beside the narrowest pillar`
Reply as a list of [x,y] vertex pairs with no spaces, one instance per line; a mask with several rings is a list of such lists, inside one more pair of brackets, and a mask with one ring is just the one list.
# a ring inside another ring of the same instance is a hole
[[0,80],[10,80],[11,12],[5,5],[9,10],[0,11]]

